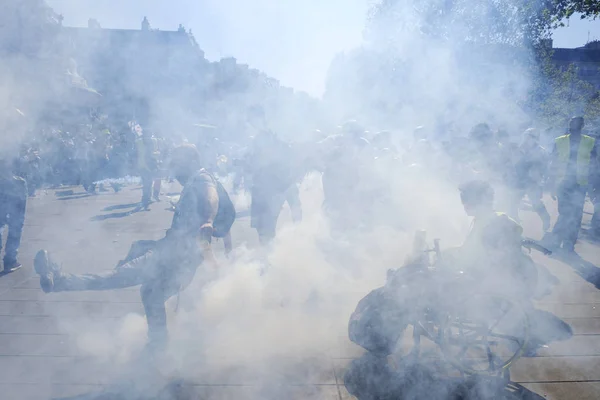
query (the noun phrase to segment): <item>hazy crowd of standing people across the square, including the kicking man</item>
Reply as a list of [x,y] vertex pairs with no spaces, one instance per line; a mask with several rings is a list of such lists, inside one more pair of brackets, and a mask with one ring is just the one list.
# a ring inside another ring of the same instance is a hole
[[[417,176],[456,184],[470,180],[485,184],[466,186],[471,188],[465,189],[462,198],[467,213],[472,212],[467,206],[473,195],[467,192],[504,193],[495,205],[489,203],[493,194],[477,195],[485,197],[485,220],[489,221],[495,207],[512,221],[500,222],[500,226],[518,226],[521,201],[527,196],[547,233],[545,243],[570,254],[575,250],[587,195],[596,205],[593,233],[600,233],[597,142],[583,129],[584,119],[574,117],[549,151],[541,146],[539,131],[534,128],[515,141],[516,137],[494,132],[486,123],[474,126],[468,135],[442,141],[424,127],[415,129],[412,138],[402,138],[389,131],[369,133],[358,122],[349,121],[332,135],[292,144],[269,130],[260,109],[251,110],[247,140],[236,144],[214,138],[167,144],[136,123],[120,131],[106,126],[78,135],[53,131],[23,146],[23,154],[12,168],[5,159],[1,169],[0,204],[4,208],[0,222],[9,227],[4,269],[20,266],[17,252],[25,205],[35,188],[81,184],[94,193],[103,190],[102,182],[114,184],[126,175],[141,177],[140,206],[146,209],[159,199],[161,179],[177,179],[183,185],[165,238],[136,242],[119,267],[106,274],[66,274],[45,250],[36,256],[35,269],[46,292],[141,285],[154,344],[164,343],[166,337],[165,301],[189,283],[201,260],[216,263],[212,238],[226,238],[231,250],[230,229],[236,212],[220,176],[233,177],[233,192],[242,188],[250,192],[251,225],[262,246],[275,238],[284,203],[290,206],[294,221],[302,219],[298,187],[309,172],[318,171],[322,174],[323,210],[334,233],[380,225],[406,228],[401,217],[394,217],[398,214],[398,192],[394,191],[398,179]],[[418,182],[413,180],[409,189],[418,192]],[[119,190],[118,185],[113,187]],[[559,218],[553,228],[544,204],[546,191],[558,199]],[[476,202],[474,207],[479,205]],[[479,234],[485,235],[489,226],[480,230]],[[520,237],[522,230],[518,232]],[[507,251],[512,250],[509,246]]]

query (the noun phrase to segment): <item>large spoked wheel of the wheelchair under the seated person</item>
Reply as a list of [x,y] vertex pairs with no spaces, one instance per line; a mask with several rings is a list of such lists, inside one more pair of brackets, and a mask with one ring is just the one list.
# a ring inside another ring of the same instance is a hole
[[449,307],[442,321],[440,348],[465,374],[502,375],[523,354],[529,317],[518,302],[478,294]]

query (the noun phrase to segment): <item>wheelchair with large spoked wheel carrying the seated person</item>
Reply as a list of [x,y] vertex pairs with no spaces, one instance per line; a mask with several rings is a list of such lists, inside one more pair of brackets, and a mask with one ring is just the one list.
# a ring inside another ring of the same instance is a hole
[[[509,367],[529,341],[527,306],[505,294],[473,290],[477,282],[464,272],[438,268],[442,260],[438,239],[432,248],[425,243],[426,233],[417,232],[413,262],[388,271],[383,288],[393,304],[409,305],[403,311],[413,326],[409,355],[420,357],[425,337],[461,375],[510,379]],[[523,240],[522,246],[550,253],[531,240]]]

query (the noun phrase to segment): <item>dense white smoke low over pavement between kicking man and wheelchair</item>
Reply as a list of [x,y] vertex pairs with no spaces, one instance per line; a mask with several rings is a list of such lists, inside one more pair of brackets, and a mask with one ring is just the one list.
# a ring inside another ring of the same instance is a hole
[[[233,260],[220,257],[216,271],[200,268],[192,285],[169,301],[165,370],[192,382],[206,374],[224,378],[219,373],[231,368],[261,370],[261,384],[286,384],[282,368],[295,371],[310,359],[328,363],[326,357],[348,346],[350,313],[405,256],[409,238],[381,229],[362,237],[364,247],[336,243],[314,206],[321,200],[319,180],[310,175],[303,184],[299,225],[286,221],[284,210],[268,254],[238,247]],[[84,354],[124,365],[143,346],[145,325],[142,316],[130,315],[117,327],[80,321],[63,328],[78,338]]]

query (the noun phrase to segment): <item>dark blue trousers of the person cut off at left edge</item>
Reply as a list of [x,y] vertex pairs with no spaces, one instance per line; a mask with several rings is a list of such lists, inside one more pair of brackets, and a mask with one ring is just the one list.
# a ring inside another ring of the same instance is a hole
[[[25,223],[25,209],[27,197],[18,198],[14,196],[0,195],[0,228],[8,226],[8,237],[4,252],[4,264],[17,262],[21,235]],[[0,236],[0,250],[2,250],[2,237]]]

